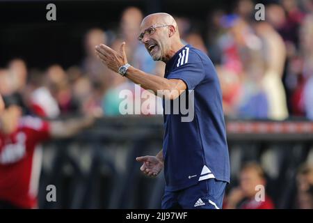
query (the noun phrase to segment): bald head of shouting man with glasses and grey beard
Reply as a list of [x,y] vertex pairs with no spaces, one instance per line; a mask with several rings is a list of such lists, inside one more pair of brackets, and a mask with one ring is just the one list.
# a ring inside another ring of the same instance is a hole
[[140,36],[155,61],[168,61],[182,47],[177,23],[168,13],[147,15],[141,22]]

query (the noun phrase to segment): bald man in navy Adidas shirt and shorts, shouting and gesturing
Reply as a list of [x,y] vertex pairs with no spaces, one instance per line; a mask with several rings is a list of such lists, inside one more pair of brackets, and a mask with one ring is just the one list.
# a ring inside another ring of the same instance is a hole
[[156,156],[137,157],[141,171],[157,176],[164,167],[166,190],[162,208],[222,208],[225,187],[230,182],[222,97],[216,70],[207,55],[183,45],[177,23],[167,13],[148,15],[141,23],[138,40],[155,61],[166,63],[164,77],[150,75],[127,63],[125,43],[120,53],[106,45],[95,47],[111,70],[119,72],[165,100],[179,100],[183,91],[193,91],[194,118],[182,122],[180,114],[164,113],[163,150]]

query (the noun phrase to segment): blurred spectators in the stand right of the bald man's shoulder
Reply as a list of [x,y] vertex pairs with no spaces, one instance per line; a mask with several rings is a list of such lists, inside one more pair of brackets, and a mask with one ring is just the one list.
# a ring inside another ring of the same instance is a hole
[[271,118],[312,116],[313,2],[281,0],[254,18],[255,4],[211,15],[208,49],[219,63],[225,114]]

